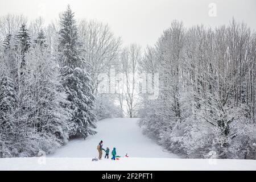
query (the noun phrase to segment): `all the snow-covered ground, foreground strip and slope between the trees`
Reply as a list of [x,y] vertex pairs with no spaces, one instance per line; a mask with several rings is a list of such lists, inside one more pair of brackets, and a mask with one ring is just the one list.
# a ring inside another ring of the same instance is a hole
[[[86,140],[73,140],[46,158],[0,159],[0,170],[256,170],[256,160],[179,159],[142,135],[137,121],[104,119]],[[128,153],[129,158],[92,162],[100,140],[110,152],[116,147],[117,155]]]

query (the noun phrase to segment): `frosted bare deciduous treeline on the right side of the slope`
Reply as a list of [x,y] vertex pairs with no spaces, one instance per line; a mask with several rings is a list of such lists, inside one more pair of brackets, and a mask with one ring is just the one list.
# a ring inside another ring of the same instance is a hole
[[186,158],[255,159],[255,64],[245,23],[173,22],[141,61],[160,78],[158,100],[143,101],[144,133]]

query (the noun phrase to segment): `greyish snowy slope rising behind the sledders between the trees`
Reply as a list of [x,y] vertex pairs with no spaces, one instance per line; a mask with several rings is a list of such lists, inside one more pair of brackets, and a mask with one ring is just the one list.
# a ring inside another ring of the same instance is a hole
[[[178,158],[177,155],[163,152],[163,148],[154,141],[144,136],[137,125],[138,119],[112,118],[104,119],[97,123],[98,132],[94,136],[73,140],[62,147],[54,158],[92,158],[98,156],[96,147],[103,140],[103,148],[117,148],[117,155],[136,158]],[[105,155],[105,152],[103,152]]]

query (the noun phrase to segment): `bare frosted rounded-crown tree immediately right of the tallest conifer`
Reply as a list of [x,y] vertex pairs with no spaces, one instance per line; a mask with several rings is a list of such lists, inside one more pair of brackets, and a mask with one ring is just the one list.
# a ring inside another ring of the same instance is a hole
[[98,75],[108,72],[110,65],[117,61],[121,39],[115,38],[108,24],[96,20],[81,20],[79,23],[79,41],[82,44],[82,56],[91,65],[93,93],[97,94]]

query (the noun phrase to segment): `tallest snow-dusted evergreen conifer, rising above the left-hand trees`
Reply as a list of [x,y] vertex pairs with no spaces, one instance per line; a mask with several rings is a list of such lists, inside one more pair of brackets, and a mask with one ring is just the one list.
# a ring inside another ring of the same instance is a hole
[[96,115],[93,113],[95,97],[91,78],[86,72],[88,63],[80,56],[77,26],[70,6],[60,17],[59,63],[63,86],[71,102],[72,119],[69,122],[69,137],[95,134]]

